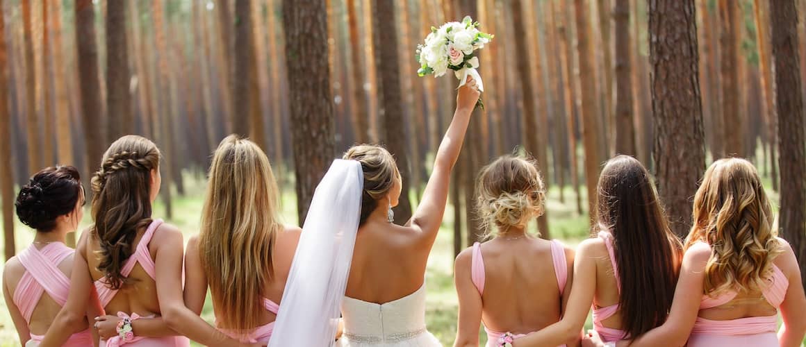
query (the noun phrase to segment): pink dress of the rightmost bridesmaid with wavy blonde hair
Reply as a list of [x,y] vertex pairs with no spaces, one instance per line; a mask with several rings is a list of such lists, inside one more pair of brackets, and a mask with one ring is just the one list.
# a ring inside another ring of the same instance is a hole
[[[762,295],[764,295],[764,299],[767,299],[767,303],[777,309],[787,294],[789,280],[786,275],[783,275],[781,269],[773,264],[772,275],[770,279],[767,279],[767,283],[768,286],[762,288]],[[727,304],[736,295],[736,291],[725,291],[715,297],[704,295],[700,301],[700,309],[716,308]],[[720,345],[730,344],[733,347],[777,346],[778,337],[775,335],[777,328],[778,315],[754,316],[736,320],[707,320],[697,317],[688,345],[704,346],[718,343]]]

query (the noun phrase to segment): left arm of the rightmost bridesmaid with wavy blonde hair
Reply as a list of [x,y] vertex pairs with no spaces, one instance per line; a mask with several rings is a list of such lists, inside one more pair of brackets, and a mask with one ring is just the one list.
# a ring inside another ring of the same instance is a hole
[[618,346],[682,346],[692,333],[700,301],[703,297],[705,263],[711,257],[711,249],[698,243],[683,254],[683,264],[675,287],[669,318],[663,325],[654,328],[633,341],[619,341]]

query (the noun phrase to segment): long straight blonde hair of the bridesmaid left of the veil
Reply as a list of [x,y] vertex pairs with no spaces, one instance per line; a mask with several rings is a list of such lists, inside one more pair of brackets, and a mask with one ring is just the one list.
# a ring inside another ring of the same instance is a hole
[[272,278],[282,225],[268,158],[255,143],[230,135],[210,164],[199,255],[220,328],[247,333],[260,325],[259,304]]

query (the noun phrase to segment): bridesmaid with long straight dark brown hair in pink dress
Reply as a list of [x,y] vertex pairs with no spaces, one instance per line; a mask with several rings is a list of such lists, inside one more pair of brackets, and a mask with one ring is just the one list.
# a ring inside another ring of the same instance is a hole
[[617,155],[602,169],[597,192],[596,237],[576,250],[563,319],[514,345],[562,344],[580,334],[591,308],[594,330],[609,342],[639,337],[666,320],[681,246],[649,172],[638,160]]

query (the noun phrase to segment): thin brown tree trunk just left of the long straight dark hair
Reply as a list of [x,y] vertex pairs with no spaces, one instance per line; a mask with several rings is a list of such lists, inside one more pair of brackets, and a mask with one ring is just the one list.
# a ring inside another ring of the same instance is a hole
[[580,60],[580,91],[582,97],[582,143],[585,151],[585,182],[588,187],[588,215],[591,222],[596,219],[596,184],[599,181],[599,170],[602,159],[599,143],[599,115],[596,105],[596,85],[583,83],[581,76],[593,76],[592,42],[589,39],[590,17],[585,0],[574,0],[576,17],[577,56]]

